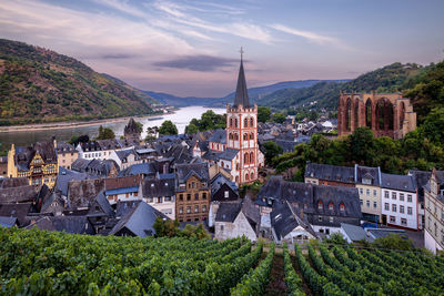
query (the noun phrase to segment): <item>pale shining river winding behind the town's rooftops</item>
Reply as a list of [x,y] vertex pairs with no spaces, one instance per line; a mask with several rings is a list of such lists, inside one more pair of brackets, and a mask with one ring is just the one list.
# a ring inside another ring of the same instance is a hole
[[[154,115],[154,116],[143,116],[143,118],[134,118],[135,121],[143,124],[143,133],[142,139],[147,135],[147,129],[149,126],[160,126],[163,121],[170,120],[176,126],[179,133],[183,133],[185,131],[185,126],[190,123],[192,119],[200,119],[201,114],[206,112],[208,110],[213,110],[216,114],[224,114],[226,112],[225,109],[222,108],[204,108],[204,106],[185,106],[180,108],[174,113],[164,114],[164,115]],[[36,131],[19,131],[19,132],[2,132],[0,133],[0,143],[1,150],[9,149],[12,143],[16,146],[24,146],[31,145],[34,142],[39,141],[49,141],[52,136],[56,136],[58,141],[69,141],[72,135],[81,135],[88,134],[90,139],[95,137],[99,134],[99,126],[103,125],[105,127],[110,127],[114,131],[115,136],[120,137],[123,135],[123,129],[127,125],[125,122],[112,122],[112,123],[98,123],[94,125],[79,125],[79,126],[69,126],[57,130],[36,130]]]

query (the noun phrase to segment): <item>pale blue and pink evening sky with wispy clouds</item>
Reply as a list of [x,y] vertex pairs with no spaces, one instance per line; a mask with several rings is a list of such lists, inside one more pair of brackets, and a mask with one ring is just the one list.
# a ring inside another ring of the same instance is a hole
[[1,0],[0,38],[73,57],[141,90],[223,96],[444,59],[442,0]]

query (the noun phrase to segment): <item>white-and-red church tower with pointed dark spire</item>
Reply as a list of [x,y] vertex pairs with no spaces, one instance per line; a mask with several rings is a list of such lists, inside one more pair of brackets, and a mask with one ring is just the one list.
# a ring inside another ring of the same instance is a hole
[[251,105],[246,90],[241,49],[241,67],[234,104],[226,105],[226,149],[238,151],[231,174],[238,185],[258,180],[263,154],[258,144],[258,105]]

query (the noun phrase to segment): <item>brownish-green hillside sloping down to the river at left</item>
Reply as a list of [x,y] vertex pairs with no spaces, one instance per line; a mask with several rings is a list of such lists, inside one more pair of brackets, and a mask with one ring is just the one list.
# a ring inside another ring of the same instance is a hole
[[0,125],[149,114],[153,102],[73,58],[0,39]]

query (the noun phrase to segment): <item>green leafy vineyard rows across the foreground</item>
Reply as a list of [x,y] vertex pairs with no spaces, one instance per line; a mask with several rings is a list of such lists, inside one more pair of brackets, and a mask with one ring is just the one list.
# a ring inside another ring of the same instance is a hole
[[2,227],[0,242],[1,295],[444,295],[444,259],[420,252]]

